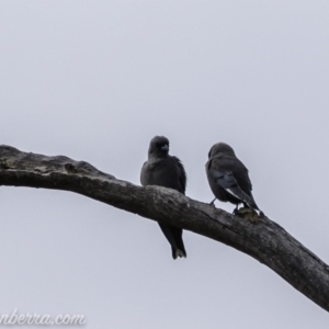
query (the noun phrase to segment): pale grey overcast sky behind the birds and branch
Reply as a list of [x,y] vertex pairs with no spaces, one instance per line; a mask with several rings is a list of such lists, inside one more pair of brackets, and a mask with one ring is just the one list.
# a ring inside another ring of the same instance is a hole
[[[0,144],[139,184],[155,135],[211,202],[225,141],[265,214],[329,262],[329,2],[0,2]],[[0,313],[83,314],[92,329],[328,329],[252,258],[84,196],[0,189]],[[232,212],[234,206],[216,202]],[[22,328],[22,327],[21,327]],[[31,327],[30,327],[31,328]]]

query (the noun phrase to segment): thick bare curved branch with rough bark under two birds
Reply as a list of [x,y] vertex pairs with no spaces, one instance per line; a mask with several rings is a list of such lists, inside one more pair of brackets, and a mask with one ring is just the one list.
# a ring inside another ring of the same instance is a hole
[[0,185],[76,192],[224,242],[268,265],[329,310],[329,266],[268,217],[254,224],[170,189],[117,180],[84,161],[22,152],[10,146],[0,146]]

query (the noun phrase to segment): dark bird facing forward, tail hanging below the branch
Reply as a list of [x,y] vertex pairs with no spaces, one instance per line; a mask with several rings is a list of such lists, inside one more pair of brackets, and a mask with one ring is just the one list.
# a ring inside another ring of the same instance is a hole
[[[186,173],[181,160],[169,155],[169,140],[163,136],[151,139],[148,160],[143,164],[140,173],[143,186],[158,185],[177,190],[185,194]],[[160,228],[171,245],[172,258],[186,257],[183,242],[183,230],[178,227],[160,224]]]

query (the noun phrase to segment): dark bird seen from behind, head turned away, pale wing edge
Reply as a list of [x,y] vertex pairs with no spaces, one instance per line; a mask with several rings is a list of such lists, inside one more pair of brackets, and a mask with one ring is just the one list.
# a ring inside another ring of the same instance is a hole
[[[242,203],[245,207],[262,214],[251,193],[252,186],[248,169],[236,157],[234,149],[229,145],[217,143],[211,148],[206,163],[206,173],[211,189],[216,196],[215,200],[218,198],[223,202],[236,204],[237,207],[234,213],[238,211],[238,205]],[[212,204],[215,200],[212,201]]]

